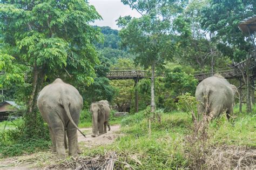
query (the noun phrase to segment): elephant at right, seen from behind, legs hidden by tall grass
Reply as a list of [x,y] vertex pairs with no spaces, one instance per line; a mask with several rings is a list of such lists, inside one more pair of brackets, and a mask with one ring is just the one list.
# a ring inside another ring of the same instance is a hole
[[211,120],[226,112],[229,120],[233,113],[235,92],[237,88],[221,76],[204,79],[196,89],[196,99],[199,101],[198,113],[206,112],[207,119]]

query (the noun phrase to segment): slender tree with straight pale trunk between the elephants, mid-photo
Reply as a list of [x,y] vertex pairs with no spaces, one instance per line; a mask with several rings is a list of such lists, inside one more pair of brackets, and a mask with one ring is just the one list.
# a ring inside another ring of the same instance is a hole
[[137,10],[142,17],[120,17],[118,25],[123,46],[128,46],[135,55],[134,61],[146,68],[151,66],[151,112],[155,110],[154,77],[156,66],[171,59],[174,44],[171,35],[171,21],[183,10],[180,1],[129,1],[122,0],[125,5]]

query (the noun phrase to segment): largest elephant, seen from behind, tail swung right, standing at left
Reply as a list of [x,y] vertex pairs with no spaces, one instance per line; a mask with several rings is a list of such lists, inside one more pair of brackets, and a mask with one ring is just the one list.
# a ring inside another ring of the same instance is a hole
[[57,78],[38,94],[37,106],[49,126],[53,152],[57,151],[58,158],[65,158],[67,136],[69,155],[77,157],[77,125],[83,106],[77,89]]

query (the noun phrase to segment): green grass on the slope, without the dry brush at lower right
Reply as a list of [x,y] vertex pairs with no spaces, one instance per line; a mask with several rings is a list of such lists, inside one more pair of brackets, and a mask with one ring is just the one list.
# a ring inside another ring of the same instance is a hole
[[[160,124],[151,124],[150,136],[149,124],[143,112],[124,118],[121,125],[120,132],[125,134],[124,137],[108,146],[85,149],[84,155],[93,157],[115,151],[119,161],[138,169],[177,169],[191,167],[196,157],[201,159],[199,157],[211,154],[207,152],[208,146],[256,148],[255,114],[238,114],[235,111],[232,123],[227,121],[225,115],[213,120],[208,129],[208,140],[203,145],[200,142],[195,145],[185,142],[187,135],[192,133],[193,124],[191,116],[183,112],[164,113]],[[206,150],[202,147],[206,147]],[[124,168],[124,165],[119,165],[119,168]]]

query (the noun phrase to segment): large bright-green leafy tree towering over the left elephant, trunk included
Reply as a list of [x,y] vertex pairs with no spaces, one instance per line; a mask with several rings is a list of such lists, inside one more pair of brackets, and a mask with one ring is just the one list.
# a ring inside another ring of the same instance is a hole
[[13,49],[2,55],[11,55],[17,64],[26,67],[26,81],[32,85],[29,95],[24,95],[26,115],[31,118],[25,119],[30,120],[25,124],[32,127],[37,122],[36,96],[46,78],[92,83],[93,67],[98,63],[93,42],[102,36],[89,23],[101,17],[86,1],[1,2],[3,44]]

